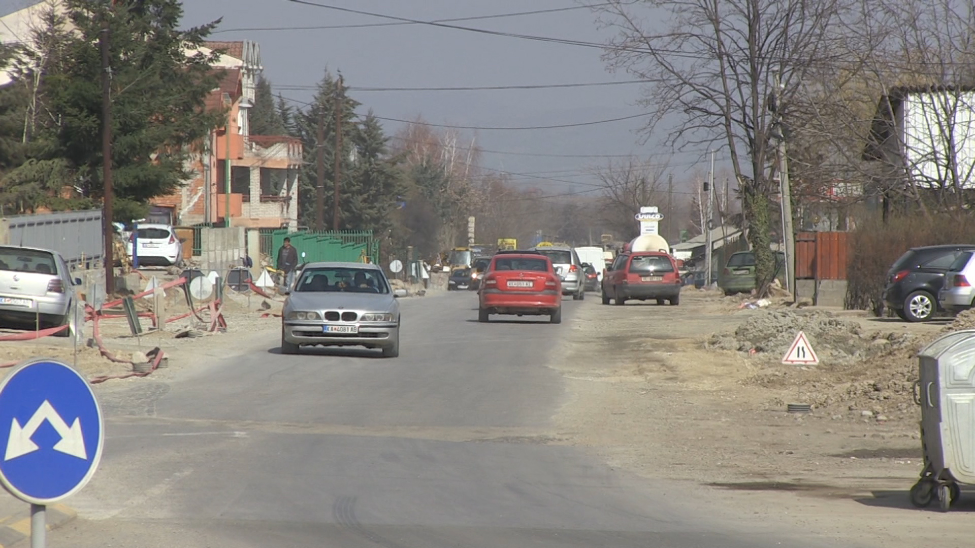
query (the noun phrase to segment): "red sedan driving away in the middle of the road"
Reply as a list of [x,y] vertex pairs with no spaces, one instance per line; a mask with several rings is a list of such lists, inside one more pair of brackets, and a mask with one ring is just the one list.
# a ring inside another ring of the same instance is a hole
[[496,254],[487,267],[479,291],[478,321],[491,314],[548,316],[562,323],[562,282],[543,254]]

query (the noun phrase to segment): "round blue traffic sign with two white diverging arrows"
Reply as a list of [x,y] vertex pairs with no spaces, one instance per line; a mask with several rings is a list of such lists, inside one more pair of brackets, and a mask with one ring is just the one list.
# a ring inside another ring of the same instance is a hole
[[26,502],[58,502],[95,474],[103,431],[81,373],[58,360],[24,362],[0,381],[0,482]]

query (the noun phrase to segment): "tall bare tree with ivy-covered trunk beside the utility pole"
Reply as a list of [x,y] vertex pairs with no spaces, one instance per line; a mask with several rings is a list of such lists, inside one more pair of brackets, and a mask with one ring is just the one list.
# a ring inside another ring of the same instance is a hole
[[[600,20],[616,31],[605,59],[648,82],[647,135],[679,117],[667,144],[729,152],[763,293],[774,274],[773,137],[782,137],[780,117],[788,115],[800,82],[833,51],[839,0],[658,0],[646,6],[611,0],[599,8]],[[666,28],[651,28],[660,24]]]

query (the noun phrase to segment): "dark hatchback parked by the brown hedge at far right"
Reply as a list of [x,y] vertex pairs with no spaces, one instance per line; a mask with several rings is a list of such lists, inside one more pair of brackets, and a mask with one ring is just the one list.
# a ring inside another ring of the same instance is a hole
[[938,293],[945,274],[959,254],[975,250],[975,245],[928,246],[902,254],[887,272],[883,301],[909,322],[930,320],[943,310]]

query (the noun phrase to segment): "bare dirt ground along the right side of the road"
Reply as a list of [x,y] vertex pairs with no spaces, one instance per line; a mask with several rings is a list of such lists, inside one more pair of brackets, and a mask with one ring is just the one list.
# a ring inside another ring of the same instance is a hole
[[[557,416],[565,443],[843,542],[916,547],[937,527],[940,545],[970,543],[975,492],[948,514],[907,497],[921,469],[915,354],[951,321],[682,296],[680,306],[584,301],[552,362],[570,392]],[[780,363],[797,328],[818,367]],[[791,414],[793,403],[813,410]]]

